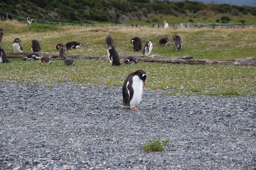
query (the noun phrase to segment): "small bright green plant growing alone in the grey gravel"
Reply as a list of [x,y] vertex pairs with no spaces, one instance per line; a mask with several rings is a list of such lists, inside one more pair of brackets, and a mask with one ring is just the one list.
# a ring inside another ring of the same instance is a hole
[[170,141],[170,138],[167,140],[160,141],[160,137],[158,137],[156,140],[152,141],[149,139],[149,142],[147,144],[141,145],[141,147],[144,148],[144,151],[149,152],[161,152],[164,151],[163,146],[168,144]]

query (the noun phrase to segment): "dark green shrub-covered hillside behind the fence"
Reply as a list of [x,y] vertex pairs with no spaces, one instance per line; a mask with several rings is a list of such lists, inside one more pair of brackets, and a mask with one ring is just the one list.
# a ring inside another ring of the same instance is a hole
[[[167,15],[181,19],[191,18],[190,22],[194,22],[193,18],[200,17],[215,18],[211,22],[227,22],[220,18],[233,16],[246,20],[244,18],[256,16],[256,7],[204,4],[188,0],[182,2],[167,0],[2,0],[0,10],[21,17],[69,23],[129,23],[131,21],[158,23],[162,21],[163,16]],[[9,17],[12,18],[12,16]],[[205,22],[210,21],[205,19]]]

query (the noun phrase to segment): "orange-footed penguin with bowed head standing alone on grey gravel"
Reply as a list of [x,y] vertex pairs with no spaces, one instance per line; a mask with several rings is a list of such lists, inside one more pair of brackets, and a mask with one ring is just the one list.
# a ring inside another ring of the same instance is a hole
[[133,107],[140,103],[143,84],[145,85],[146,78],[147,78],[147,74],[143,70],[137,70],[129,74],[125,79],[124,85],[122,88],[123,104],[120,106],[114,107],[114,109],[128,107],[131,110],[138,110]]

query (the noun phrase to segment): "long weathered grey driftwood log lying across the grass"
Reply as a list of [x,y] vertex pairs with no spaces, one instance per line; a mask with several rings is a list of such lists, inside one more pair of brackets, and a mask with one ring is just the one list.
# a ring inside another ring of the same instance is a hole
[[[23,58],[31,52],[23,52],[23,53],[6,53],[7,57],[10,58]],[[54,55],[48,52],[39,52],[39,54],[43,56],[49,56],[51,58],[58,58],[58,55]],[[124,60],[127,54],[119,54],[120,59]],[[193,57],[191,55],[185,55],[181,57],[164,57],[158,54],[150,55],[148,57],[143,55],[132,55],[135,56],[139,62],[159,62],[159,63],[179,63],[179,64],[223,64],[223,65],[253,65],[256,66],[256,57],[244,57],[244,58],[236,58],[236,59],[227,59],[227,60],[208,60],[208,59],[196,59],[190,60]],[[68,57],[75,59],[86,59],[86,60],[105,60],[108,61],[108,55],[85,55],[85,54],[76,54],[76,55],[68,55]]]

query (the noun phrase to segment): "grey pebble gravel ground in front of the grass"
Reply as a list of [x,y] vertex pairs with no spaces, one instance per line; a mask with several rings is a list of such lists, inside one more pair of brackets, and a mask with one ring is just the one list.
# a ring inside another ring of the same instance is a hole
[[[0,82],[0,169],[256,168],[255,96],[166,92],[114,110],[122,87]],[[157,137],[164,152],[143,151]]]

